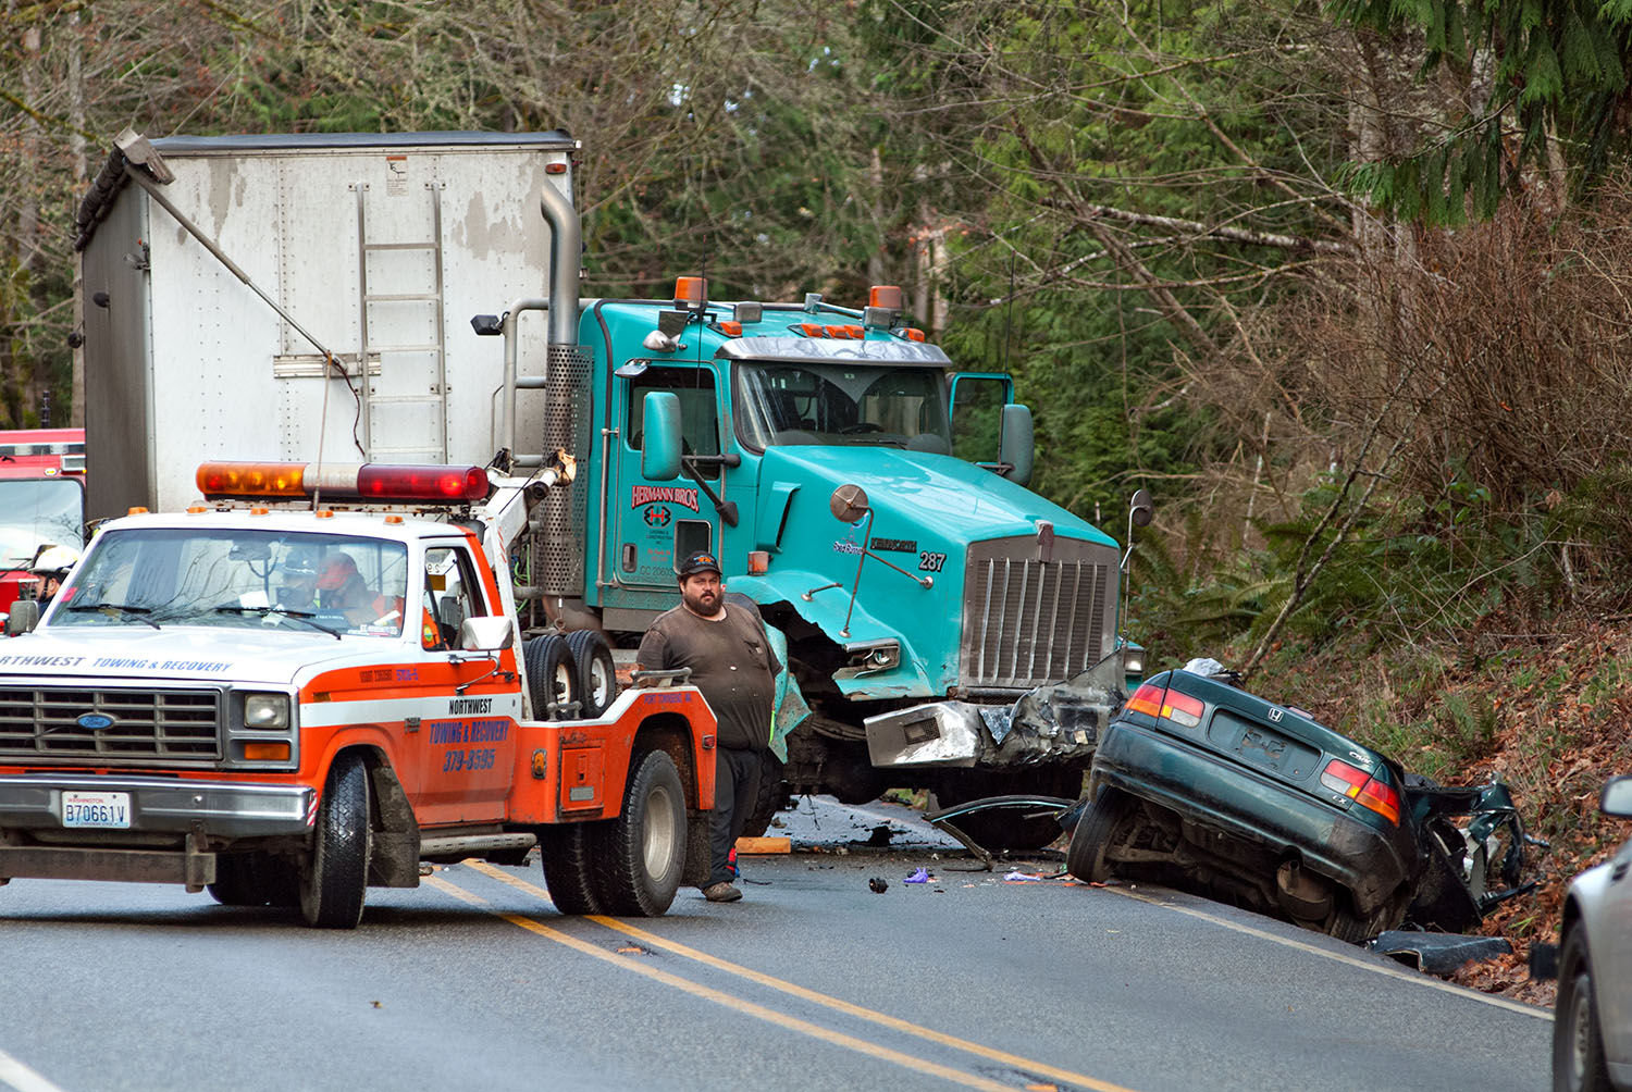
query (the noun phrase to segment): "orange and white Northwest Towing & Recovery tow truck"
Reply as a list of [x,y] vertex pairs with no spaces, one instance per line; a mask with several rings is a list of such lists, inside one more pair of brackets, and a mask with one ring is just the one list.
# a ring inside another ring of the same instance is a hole
[[181,883],[349,929],[421,862],[534,846],[570,914],[661,914],[702,880],[702,695],[617,694],[594,635],[517,645],[504,558],[537,475],[207,464],[197,485],[106,522],[0,646],[0,883]]

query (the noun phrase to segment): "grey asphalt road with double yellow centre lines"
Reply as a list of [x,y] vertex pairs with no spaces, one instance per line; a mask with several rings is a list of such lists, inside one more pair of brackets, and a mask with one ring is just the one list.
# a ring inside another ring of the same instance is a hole
[[15,881],[0,1089],[1547,1087],[1542,1010],[1159,888],[966,872],[902,808],[783,819],[744,901],[661,919],[561,917],[537,865],[370,891],[356,932]]

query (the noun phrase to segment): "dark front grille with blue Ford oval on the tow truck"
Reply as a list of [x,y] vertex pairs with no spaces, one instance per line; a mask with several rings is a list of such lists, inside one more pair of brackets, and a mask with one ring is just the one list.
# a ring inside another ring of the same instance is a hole
[[0,761],[209,762],[220,759],[219,726],[215,690],[0,689]]

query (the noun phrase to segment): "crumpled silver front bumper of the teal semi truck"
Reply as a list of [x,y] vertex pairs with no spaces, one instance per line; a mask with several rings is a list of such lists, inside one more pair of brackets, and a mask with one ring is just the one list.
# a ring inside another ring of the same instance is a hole
[[1100,730],[1128,700],[1121,655],[1074,679],[1036,687],[1012,705],[927,702],[868,717],[875,767],[997,767],[1093,757]]

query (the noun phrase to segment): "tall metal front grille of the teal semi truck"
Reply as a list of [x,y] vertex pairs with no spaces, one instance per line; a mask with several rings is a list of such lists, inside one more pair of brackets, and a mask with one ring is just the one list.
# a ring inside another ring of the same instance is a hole
[[1092,668],[1116,643],[1116,548],[1054,539],[992,539],[968,552],[965,687],[1027,690]]

